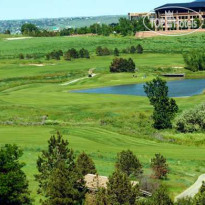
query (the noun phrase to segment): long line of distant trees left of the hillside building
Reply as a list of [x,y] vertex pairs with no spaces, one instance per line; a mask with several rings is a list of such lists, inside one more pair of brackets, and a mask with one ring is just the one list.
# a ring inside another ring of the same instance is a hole
[[[148,18],[145,18],[146,25],[151,26]],[[24,35],[34,37],[49,37],[49,36],[70,36],[70,35],[82,35],[82,34],[96,34],[109,36],[111,34],[121,34],[123,36],[135,35],[137,31],[146,31],[146,27],[143,23],[143,18],[138,20],[129,20],[127,18],[120,18],[118,23],[112,24],[98,24],[95,23],[90,26],[81,28],[65,28],[60,31],[48,31],[38,28],[31,23],[23,24],[21,27],[21,33]]]

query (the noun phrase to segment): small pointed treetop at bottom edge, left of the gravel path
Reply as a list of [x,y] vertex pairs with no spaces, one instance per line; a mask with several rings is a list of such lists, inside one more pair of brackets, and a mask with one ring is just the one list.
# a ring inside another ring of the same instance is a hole
[[171,198],[167,193],[167,189],[164,186],[160,186],[159,189],[153,194],[150,199],[149,205],[173,205]]

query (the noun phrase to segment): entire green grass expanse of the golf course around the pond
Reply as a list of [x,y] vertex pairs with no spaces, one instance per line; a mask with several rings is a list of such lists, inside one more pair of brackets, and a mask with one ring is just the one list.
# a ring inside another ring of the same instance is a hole
[[[187,78],[205,78],[205,72],[184,69],[181,51],[203,47],[204,36],[183,38],[157,37],[136,40],[122,37],[55,37],[17,41],[0,40],[0,145],[16,143],[24,149],[25,172],[36,201],[36,159],[51,134],[61,131],[76,154],[86,151],[95,161],[99,174],[109,175],[115,156],[123,149],[133,150],[150,175],[150,159],[162,153],[170,165],[168,180],[171,196],[190,186],[205,172],[205,133],[182,134],[176,130],[155,130],[153,108],[146,97],[70,93],[74,89],[141,83],[163,73],[185,73]],[[132,73],[111,74],[114,56],[97,57],[97,46],[120,49],[141,43],[144,54],[127,54],[136,63]],[[46,61],[6,59],[19,53],[46,53],[53,49],[87,48],[91,59]],[[155,52],[156,51],[156,52]],[[155,53],[154,53],[155,52]],[[41,66],[36,66],[41,64]],[[94,69],[94,78],[85,78],[62,86],[63,82],[86,77]],[[146,78],[144,76],[146,75]],[[173,80],[168,79],[168,80]],[[179,114],[205,102],[205,94],[176,98]],[[40,125],[43,116],[46,123]],[[38,204],[37,202],[35,204]]]

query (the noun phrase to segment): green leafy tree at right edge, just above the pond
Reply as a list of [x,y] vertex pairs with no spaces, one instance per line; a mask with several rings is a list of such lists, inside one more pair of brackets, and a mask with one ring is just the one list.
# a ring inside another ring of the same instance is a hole
[[205,50],[192,50],[183,57],[188,70],[194,72],[205,70]]

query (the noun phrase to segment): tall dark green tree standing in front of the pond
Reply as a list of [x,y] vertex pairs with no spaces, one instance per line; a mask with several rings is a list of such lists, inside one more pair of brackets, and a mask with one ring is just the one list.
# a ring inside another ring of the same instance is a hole
[[145,93],[154,106],[154,127],[156,129],[172,128],[171,120],[178,112],[178,106],[174,99],[168,97],[166,81],[157,77],[144,85]]

